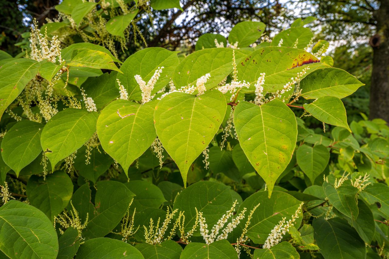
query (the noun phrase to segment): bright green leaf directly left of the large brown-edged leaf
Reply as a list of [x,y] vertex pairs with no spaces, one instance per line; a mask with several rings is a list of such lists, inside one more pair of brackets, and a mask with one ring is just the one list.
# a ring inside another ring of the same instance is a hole
[[[212,48],[202,49],[189,54],[175,68],[173,82],[177,88],[196,86],[197,79],[209,73],[211,76],[205,83],[207,89],[217,86],[233,70],[233,49]],[[236,62],[240,62],[245,54],[235,51]]]

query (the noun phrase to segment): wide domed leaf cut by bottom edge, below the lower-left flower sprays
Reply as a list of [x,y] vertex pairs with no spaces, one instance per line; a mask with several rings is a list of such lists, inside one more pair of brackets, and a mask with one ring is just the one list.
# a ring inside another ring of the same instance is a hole
[[143,259],[142,254],[132,245],[112,238],[93,238],[80,246],[75,257],[80,259]]

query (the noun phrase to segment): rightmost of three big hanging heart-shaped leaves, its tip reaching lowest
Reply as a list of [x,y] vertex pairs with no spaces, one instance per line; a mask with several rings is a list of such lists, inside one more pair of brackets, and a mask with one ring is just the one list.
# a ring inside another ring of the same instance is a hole
[[234,112],[234,124],[240,147],[265,180],[270,197],[296,147],[296,117],[277,99],[261,106],[241,101]]

